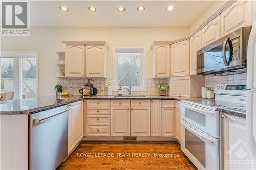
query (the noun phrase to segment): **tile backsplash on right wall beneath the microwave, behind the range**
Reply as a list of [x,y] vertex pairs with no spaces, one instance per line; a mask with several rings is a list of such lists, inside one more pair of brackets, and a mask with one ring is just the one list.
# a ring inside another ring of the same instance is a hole
[[233,74],[226,73],[223,75],[205,75],[205,87],[210,87],[211,90],[214,90],[217,84],[221,83],[246,83],[246,72]]

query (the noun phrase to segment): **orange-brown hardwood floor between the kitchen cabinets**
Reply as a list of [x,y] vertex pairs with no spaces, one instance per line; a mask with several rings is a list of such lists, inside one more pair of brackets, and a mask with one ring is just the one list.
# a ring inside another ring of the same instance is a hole
[[176,142],[82,141],[57,169],[163,170],[197,168],[188,160]]

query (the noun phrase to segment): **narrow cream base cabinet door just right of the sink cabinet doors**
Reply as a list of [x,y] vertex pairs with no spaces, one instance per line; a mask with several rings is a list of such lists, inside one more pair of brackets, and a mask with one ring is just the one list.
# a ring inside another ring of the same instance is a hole
[[150,136],[161,136],[161,100],[151,100],[150,105]]

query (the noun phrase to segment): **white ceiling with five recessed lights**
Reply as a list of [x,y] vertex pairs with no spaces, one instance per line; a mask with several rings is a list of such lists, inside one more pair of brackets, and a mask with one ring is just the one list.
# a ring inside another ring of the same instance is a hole
[[[213,1],[31,1],[32,27],[183,27],[190,26]],[[59,10],[65,6],[69,12]],[[137,12],[137,7],[146,7]],[[166,7],[174,9],[166,12]],[[88,11],[93,6],[96,12]],[[120,13],[117,7],[124,6]]]

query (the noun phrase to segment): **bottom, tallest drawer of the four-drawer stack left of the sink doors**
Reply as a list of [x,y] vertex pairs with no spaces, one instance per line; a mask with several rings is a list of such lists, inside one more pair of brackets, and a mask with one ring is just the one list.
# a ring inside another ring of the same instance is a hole
[[87,123],[86,136],[110,136],[110,123]]

